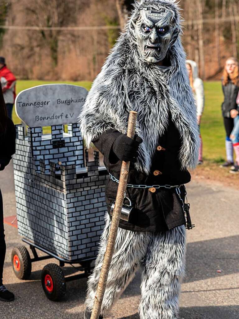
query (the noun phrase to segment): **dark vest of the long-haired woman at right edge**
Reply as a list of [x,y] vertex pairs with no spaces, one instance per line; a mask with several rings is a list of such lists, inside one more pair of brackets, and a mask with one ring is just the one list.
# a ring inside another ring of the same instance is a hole
[[236,109],[239,111],[239,108],[236,104],[236,98],[239,91],[239,86],[235,85],[229,80],[227,85],[222,84],[222,91],[224,94],[224,101],[221,105],[222,116],[230,118],[230,111]]

